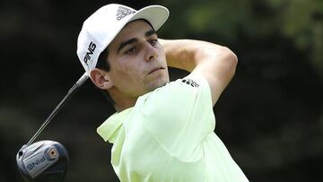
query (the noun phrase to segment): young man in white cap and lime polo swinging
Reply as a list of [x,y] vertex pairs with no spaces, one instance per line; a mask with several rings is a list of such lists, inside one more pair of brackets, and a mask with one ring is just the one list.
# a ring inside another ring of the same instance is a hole
[[[83,23],[77,54],[117,110],[97,130],[113,143],[112,166],[121,181],[248,181],[214,134],[213,106],[237,57],[204,41],[158,39],[168,15],[108,4]],[[190,74],[170,82],[168,66]]]

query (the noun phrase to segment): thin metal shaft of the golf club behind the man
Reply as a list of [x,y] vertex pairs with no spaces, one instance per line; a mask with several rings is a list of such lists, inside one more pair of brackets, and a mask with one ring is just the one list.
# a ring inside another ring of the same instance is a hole
[[31,145],[31,143],[34,142],[34,140],[37,138],[37,136],[42,132],[42,130],[48,126],[48,123],[57,115],[58,111],[63,108],[67,100],[71,98],[71,96],[78,91],[78,89],[83,85],[83,83],[89,78],[89,76],[85,73],[82,75],[82,77],[74,83],[73,87],[67,92],[63,100],[61,100],[57,107],[54,108],[54,110],[50,113],[48,118],[45,120],[45,122],[39,127],[39,130],[31,137],[31,140],[27,143],[27,146]]

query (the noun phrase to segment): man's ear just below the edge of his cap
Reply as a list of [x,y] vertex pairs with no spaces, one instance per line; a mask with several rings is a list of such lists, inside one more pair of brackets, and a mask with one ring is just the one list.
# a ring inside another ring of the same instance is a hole
[[92,69],[90,72],[90,78],[101,90],[108,90],[114,86],[113,82],[110,80],[109,73],[105,70],[98,68]]

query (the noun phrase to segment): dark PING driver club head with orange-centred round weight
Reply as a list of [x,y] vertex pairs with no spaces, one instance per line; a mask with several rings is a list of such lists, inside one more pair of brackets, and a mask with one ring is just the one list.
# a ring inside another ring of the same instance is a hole
[[16,160],[24,181],[57,182],[64,180],[69,159],[61,143],[44,140],[23,145]]

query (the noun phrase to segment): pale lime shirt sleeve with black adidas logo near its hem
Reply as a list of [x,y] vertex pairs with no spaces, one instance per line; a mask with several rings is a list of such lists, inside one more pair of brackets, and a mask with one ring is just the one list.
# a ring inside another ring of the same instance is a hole
[[210,87],[199,75],[189,74],[151,92],[141,112],[145,129],[174,155],[189,155],[214,132]]

